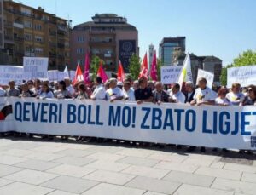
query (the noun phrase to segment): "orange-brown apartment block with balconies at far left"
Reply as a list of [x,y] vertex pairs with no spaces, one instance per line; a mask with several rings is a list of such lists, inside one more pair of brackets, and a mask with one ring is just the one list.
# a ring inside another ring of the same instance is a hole
[[4,49],[9,64],[22,65],[23,57],[49,57],[49,69],[70,65],[69,23],[21,3],[4,1]]

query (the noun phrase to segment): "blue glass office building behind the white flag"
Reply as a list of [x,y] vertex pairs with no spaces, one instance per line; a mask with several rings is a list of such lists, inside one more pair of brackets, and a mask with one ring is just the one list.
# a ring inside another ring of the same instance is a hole
[[186,37],[164,37],[159,45],[162,66],[177,65],[177,58],[186,50]]

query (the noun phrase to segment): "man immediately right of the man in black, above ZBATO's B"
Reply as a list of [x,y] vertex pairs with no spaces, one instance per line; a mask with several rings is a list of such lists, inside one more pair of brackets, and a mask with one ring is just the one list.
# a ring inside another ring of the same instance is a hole
[[169,102],[169,95],[164,91],[161,82],[156,82],[154,85],[153,102],[157,104],[160,104],[161,102]]

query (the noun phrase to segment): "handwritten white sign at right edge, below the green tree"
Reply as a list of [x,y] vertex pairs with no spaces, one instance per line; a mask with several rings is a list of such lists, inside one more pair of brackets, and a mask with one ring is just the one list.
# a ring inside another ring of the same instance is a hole
[[228,68],[227,87],[231,88],[232,83],[240,83],[241,87],[247,87],[256,83],[256,65]]

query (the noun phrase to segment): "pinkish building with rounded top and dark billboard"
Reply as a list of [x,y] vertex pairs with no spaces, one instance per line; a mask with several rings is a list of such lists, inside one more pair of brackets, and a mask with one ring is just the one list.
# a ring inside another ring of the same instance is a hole
[[74,26],[71,43],[73,68],[78,63],[84,68],[84,56],[89,52],[90,57],[96,55],[103,60],[106,71],[116,72],[121,60],[128,72],[131,55],[139,54],[136,27],[116,14],[95,14],[92,21]]

